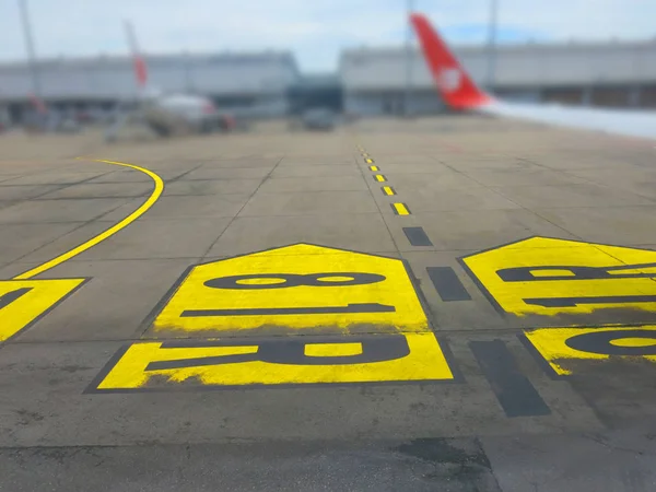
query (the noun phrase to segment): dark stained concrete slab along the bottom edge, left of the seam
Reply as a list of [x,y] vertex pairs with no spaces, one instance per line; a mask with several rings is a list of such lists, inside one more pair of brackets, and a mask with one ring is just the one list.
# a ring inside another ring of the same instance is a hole
[[[98,472],[102,468],[103,472]],[[475,440],[375,443],[156,444],[0,449],[2,482],[15,492],[75,490],[499,492]]]

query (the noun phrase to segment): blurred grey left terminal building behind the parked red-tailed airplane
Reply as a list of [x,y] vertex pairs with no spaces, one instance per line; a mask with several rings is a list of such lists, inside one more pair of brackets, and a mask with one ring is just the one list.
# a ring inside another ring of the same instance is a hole
[[[145,56],[148,85],[166,93],[211,97],[222,109],[253,116],[289,112],[289,87],[298,80],[291,52]],[[49,108],[109,113],[136,102],[138,87],[129,57],[49,59],[37,63],[40,95]],[[26,63],[0,65],[0,106],[21,120],[33,92]]]

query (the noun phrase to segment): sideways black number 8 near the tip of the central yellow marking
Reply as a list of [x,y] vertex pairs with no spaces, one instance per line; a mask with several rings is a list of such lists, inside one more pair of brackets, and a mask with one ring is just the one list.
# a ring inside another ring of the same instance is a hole
[[[239,283],[245,280],[282,280],[276,283]],[[338,280],[328,280],[338,279]],[[286,289],[293,286],[347,286],[366,285],[382,282],[384,276],[362,272],[329,272],[329,273],[256,273],[246,276],[230,276],[210,279],[204,285],[214,289]]]

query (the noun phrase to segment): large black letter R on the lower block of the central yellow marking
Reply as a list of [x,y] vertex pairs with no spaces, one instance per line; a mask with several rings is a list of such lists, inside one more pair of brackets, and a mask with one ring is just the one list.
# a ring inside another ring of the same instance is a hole
[[[184,367],[200,367],[207,365],[234,364],[239,362],[267,362],[269,364],[284,365],[344,365],[344,364],[367,364],[372,362],[384,362],[402,359],[410,354],[408,341],[402,335],[376,337],[349,337],[347,339],[335,341],[331,344],[360,343],[361,351],[352,355],[306,355],[306,348],[317,345],[316,341],[305,340],[274,340],[258,343],[258,350],[255,353],[219,355],[209,358],[178,359],[175,361],[151,362],[145,367],[147,371],[164,371]],[[198,347],[235,347],[243,345],[243,342],[206,342],[195,344]],[[186,344],[162,343],[162,349],[188,348]]]

